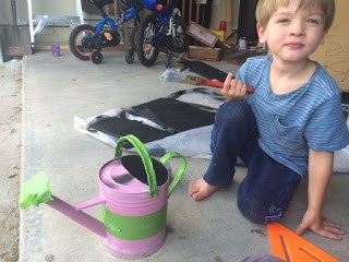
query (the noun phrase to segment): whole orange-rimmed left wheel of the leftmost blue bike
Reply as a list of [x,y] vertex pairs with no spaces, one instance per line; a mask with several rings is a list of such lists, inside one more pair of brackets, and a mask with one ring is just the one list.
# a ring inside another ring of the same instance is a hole
[[89,60],[91,53],[94,51],[92,36],[96,28],[92,25],[77,25],[69,36],[69,48],[71,52],[81,60]]

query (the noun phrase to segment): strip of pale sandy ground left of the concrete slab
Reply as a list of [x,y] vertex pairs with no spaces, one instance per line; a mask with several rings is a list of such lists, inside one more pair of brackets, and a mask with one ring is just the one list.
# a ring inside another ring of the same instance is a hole
[[19,261],[22,61],[0,63],[0,261]]

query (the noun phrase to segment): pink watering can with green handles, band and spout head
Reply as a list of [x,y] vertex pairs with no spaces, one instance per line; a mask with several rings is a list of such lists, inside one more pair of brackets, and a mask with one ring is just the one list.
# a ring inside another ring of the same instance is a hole
[[[122,156],[122,144],[127,141],[137,155]],[[165,165],[173,157],[180,158],[181,166],[169,182]],[[23,186],[20,205],[26,209],[46,203],[103,237],[113,254],[143,258],[157,251],[165,241],[167,199],[185,167],[185,159],[174,152],[159,162],[151,158],[142,142],[129,134],[117,141],[115,158],[100,168],[96,198],[72,206],[52,195],[50,181],[44,172],[38,172]],[[83,212],[97,204],[101,205],[101,222]]]

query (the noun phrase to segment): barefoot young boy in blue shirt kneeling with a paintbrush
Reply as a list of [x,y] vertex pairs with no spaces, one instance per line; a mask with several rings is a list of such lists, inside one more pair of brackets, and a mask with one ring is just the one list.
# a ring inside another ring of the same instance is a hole
[[[322,207],[334,152],[349,143],[340,88],[309,59],[334,19],[335,0],[260,0],[260,41],[272,56],[248,59],[229,73],[228,98],[217,111],[213,157],[203,179],[189,193],[203,200],[231,183],[239,156],[248,167],[238,191],[238,207],[255,223],[278,221],[300,179],[309,176],[308,210],[296,233],[305,229],[341,239],[340,227],[324,219]],[[246,94],[246,86],[254,87]]]

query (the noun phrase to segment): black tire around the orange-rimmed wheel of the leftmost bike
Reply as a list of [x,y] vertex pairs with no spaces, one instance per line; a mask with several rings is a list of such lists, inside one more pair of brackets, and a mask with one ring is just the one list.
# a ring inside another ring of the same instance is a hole
[[81,60],[89,60],[94,49],[83,47],[83,43],[79,43],[79,37],[82,33],[94,34],[95,32],[96,28],[87,24],[77,25],[74,29],[72,29],[72,32],[69,35],[69,48],[70,51],[74,55],[74,57]]

